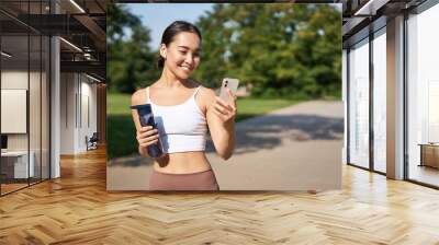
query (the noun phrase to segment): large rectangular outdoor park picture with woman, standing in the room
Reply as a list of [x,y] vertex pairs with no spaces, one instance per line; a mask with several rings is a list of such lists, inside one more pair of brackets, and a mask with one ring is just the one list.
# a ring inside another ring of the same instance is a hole
[[[126,24],[131,32],[108,43],[109,190],[339,188],[344,114],[330,101],[341,94],[340,11],[292,3],[214,3],[207,11],[198,3],[190,11],[180,3],[114,5],[143,25]],[[110,31],[124,25],[116,16],[109,15]],[[229,103],[215,96],[224,94],[224,78],[240,81],[238,101],[228,92]],[[273,112],[305,100],[322,102]]]

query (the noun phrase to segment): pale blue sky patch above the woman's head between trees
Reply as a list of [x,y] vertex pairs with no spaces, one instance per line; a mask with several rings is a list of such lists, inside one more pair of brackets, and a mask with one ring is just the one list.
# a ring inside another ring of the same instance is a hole
[[151,31],[149,47],[156,50],[165,28],[173,21],[194,23],[205,11],[212,10],[213,3],[130,3],[131,12],[140,18]]

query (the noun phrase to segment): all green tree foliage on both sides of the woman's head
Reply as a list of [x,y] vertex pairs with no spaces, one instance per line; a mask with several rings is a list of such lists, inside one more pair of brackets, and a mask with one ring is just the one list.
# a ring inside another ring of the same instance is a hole
[[[217,3],[195,25],[203,51],[193,78],[202,84],[218,88],[229,77],[256,97],[339,97],[341,13],[334,5]],[[156,81],[149,30],[122,4],[110,8],[108,26],[110,90],[131,93]]]

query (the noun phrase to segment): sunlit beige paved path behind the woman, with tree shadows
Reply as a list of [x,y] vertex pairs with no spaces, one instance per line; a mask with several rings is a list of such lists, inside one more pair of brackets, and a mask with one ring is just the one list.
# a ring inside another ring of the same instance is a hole
[[[228,161],[207,143],[222,190],[340,188],[344,133],[341,102],[313,101],[236,126],[237,148]],[[109,189],[148,189],[150,165],[109,167]],[[124,176],[124,177],[122,177]]]

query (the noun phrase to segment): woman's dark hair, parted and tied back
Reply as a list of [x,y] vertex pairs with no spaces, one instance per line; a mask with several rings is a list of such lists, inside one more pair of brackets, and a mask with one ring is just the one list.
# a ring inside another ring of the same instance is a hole
[[[164,35],[161,36],[161,43],[160,44],[165,44],[167,47],[170,43],[172,43],[173,37],[177,36],[177,34],[182,33],[182,32],[187,32],[187,33],[194,33],[199,36],[200,42],[201,42],[201,33],[200,30],[185,21],[175,21],[172,24],[168,25],[168,27],[166,27]],[[157,59],[157,67],[158,68],[164,68],[165,66],[165,59],[164,57],[161,57],[160,55],[158,56]]]

